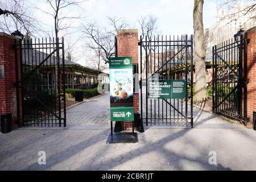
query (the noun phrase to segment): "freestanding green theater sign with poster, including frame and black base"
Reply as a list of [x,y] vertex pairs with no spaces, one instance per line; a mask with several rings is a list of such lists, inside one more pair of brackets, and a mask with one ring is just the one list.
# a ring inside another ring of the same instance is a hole
[[[110,57],[109,59],[109,96],[111,134],[107,143],[136,143],[137,133],[134,133],[133,110],[133,61],[132,57]],[[122,121],[131,121],[133,133],[113,133],[115,126]]]

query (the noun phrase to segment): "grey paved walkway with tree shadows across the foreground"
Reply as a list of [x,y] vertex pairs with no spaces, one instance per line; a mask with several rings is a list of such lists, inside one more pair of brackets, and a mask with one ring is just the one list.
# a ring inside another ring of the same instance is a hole
[[[0,134],[0,170],[256,170],[255,131],[200,110],[195,114],[194,129],[145,127],[139,143],[107,144],[105,94],[69,109],[65,129],[23,127]],[[39,151],[46,152],[46,165],[38,164]],[[211,156],[216,164],[209,164]]]

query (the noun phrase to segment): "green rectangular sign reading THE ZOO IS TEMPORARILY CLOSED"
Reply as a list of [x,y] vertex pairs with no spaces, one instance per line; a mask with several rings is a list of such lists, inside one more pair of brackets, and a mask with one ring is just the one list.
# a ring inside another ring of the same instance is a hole
[[185,98],[187,82],[185,80],[148,81],[148,98]]

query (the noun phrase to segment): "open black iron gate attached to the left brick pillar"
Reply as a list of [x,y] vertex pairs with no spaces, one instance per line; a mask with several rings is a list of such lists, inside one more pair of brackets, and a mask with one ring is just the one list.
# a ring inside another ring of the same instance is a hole
[[19,121],[23,126],[65,127],[64,39],[59,42],[26,37],[23,42],[15,42],[15,47],[16,60],[20,60],[16,72],[21,72],[20,78],[16,77],[22,102],[22,110],[17,107]]

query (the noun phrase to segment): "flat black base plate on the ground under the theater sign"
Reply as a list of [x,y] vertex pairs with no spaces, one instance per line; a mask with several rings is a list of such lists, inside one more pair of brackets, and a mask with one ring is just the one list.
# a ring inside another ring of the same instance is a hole
[[137,143],[139,142],[137,133],[111,133],[106,143]]

